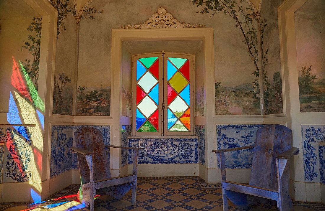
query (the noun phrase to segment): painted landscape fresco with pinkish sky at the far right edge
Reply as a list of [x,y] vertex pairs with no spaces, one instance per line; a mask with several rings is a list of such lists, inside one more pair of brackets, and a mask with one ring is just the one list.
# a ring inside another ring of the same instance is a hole
[[325,112],[325,2],[307,1],[295,13],[301,112]]

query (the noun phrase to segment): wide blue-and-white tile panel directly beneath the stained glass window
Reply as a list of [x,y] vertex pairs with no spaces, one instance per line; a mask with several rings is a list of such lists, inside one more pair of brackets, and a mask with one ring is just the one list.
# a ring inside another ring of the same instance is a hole
[[[197,138],[129,138],[129,147],[143,147],[139,164],[198,163]],[[133,151],[128,152],[133,163]]]

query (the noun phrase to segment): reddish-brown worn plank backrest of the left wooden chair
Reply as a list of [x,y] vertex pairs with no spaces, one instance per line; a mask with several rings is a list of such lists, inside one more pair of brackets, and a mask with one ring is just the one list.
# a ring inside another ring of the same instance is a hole
[[[82,127],[74,132],[76,147],[94,152],[94,181],[111,178],[109,159],[104,149],[102,133],[94,127]],[[89,167],[84,156],[78,154],[81,184],[89,182]]]

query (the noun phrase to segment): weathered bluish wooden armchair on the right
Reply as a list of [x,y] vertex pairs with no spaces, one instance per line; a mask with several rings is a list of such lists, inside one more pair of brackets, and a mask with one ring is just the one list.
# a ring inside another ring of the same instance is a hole
[[[291,140],[289,128],[270,124],[257,130],[255,146],[212,150],[220,163],[223,210],[228,210],[228,199],[244,209],[256,202],[266,203],[264,198],[277,201],[279,210],[293,209],[288,194],[289,158],[297,155],[299,148],[291,147]],[[226,180],[225,152],[240,149],[254,152],[249,185]]]

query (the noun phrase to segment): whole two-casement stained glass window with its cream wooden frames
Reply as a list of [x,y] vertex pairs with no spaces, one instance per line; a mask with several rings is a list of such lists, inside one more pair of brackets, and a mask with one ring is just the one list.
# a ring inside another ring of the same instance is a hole
[[133,56],[133,135],[193,135],[189,55]]

